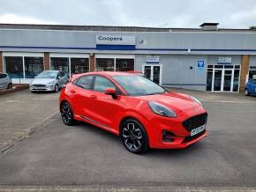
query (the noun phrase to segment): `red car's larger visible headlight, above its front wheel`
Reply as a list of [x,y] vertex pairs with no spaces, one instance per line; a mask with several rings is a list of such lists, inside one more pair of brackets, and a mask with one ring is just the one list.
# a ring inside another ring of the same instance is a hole
[[159,114],[166,117],[177,117],[177,114],[174,111],[170,110],[168,107],[165,107],[160,103],[149,101],[148,106],[151,108],[154,114]]

